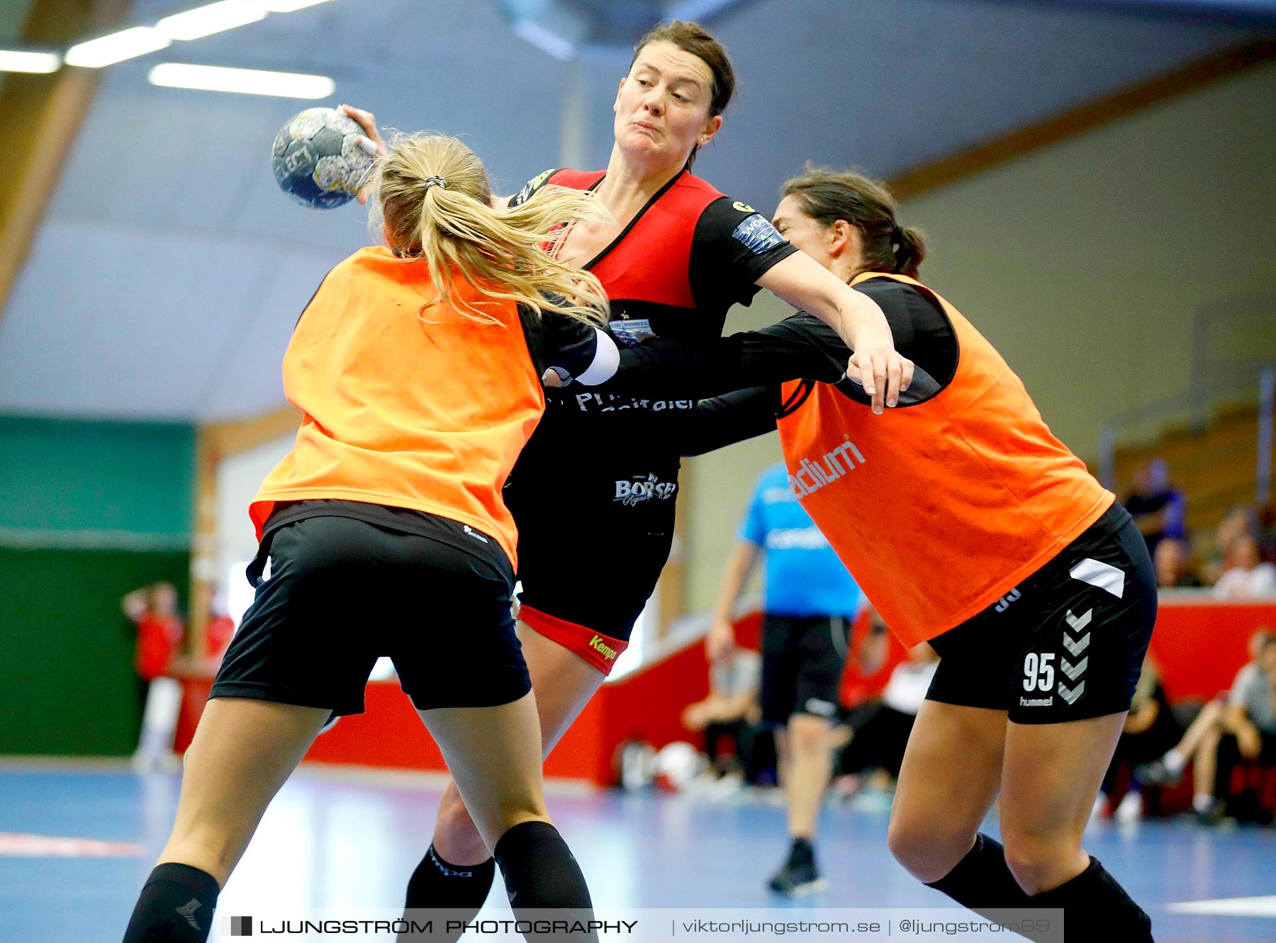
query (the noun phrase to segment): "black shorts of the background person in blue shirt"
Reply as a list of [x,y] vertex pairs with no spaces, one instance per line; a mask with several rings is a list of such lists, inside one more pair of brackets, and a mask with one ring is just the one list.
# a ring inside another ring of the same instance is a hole
[[837,689],[851,620],[840,615],[762,619],[762,721],[783,725],[795,713],[837,718]]

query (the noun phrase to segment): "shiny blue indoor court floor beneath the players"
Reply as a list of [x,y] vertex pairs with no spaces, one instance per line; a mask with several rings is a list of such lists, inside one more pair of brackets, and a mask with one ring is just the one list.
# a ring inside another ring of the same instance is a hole
[[[177,789],[175,773],[0,767],[0,942],[117,940],[167,837]],[[218,911],[267,901],[399,906],[438,798],[438,780],[302,769],[268,810]],[[763,887],[785,851],[783,810],[772,803],[551,785],[550,810],[601,906],[949,905],[891,859],[884,806],[826,809],[818,854],[829,888],[800,902]],[[1276,829],[1099,823],[1086,846],[1152,915],[1159,943],[1276,940]],[[489,902],[504,907],[498,893]]]

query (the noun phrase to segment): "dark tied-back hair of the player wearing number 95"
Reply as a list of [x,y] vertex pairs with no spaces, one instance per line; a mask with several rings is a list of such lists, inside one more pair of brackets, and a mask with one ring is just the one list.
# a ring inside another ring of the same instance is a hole
[[794,197],[803,213],[822,226],[845,219],[864,241],[863,272],[891,272],[917,277],[926,258],[920,231],[901,227],[894,197],[886,184],[854,171],[833,171],[808,163],[805,174],[785,182],[781,197]]

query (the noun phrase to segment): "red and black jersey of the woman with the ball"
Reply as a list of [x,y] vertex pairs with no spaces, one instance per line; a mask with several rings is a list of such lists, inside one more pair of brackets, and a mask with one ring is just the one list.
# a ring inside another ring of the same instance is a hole
[[[510,204],[546,184],[595,190],[604,177],[545,171]],[[727,309],[749,304],[758,278],[795,251],[753,207],[683,171],[584,268],[607,291],[621,345],[660,337],[695,346],[720,337]],[[637,388],[546,390],[545,419],[505,489],[518,526],[524,613],[621,642],[669,556],[680,462],[671,430],[695,410],[694,399],[628,389]],[[616,578],[598,579],[575,563],[582,550]]]

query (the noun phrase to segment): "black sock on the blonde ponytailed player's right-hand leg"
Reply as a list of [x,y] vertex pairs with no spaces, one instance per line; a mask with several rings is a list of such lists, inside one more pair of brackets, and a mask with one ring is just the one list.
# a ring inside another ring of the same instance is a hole
[[[581,923],[593,919],[593,903],[581,865],[575,863],[563,836],[549,822],[521,822],[514,826],[500,836],[495,858],[516,916],[522,911],[553,907],[565,911],[554,915],[556,919]],[[533,916],[536,915],[527,914],[528,919]],[[597,934],[592,932],[526,935],[528,940],[597,940]]]

